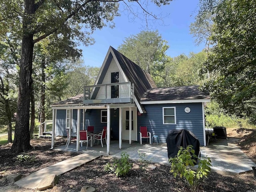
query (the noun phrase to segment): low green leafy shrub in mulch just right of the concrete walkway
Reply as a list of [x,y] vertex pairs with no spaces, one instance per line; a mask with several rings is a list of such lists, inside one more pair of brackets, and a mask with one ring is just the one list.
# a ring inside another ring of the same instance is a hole
[[132,168],[132,163],[128,159],[129,155],[122,152],[121,158],[115,159],[113,163],[107,163],[104,170],[116,174],[117,177],[126,176]]

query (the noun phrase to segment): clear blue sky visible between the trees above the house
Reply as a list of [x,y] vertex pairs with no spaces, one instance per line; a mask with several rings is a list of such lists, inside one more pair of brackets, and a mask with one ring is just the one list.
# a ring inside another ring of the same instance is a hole
[[[204,44],[196,46],[194,38],[190,34],[189,26],[194,21],[199,0],[174,0],[168,6],[158,8],[152,4],[148,9],[154,14],[162,14],[162,20],[150,22],[152,30],[158,30],[164,40],[168,42],[170,48],[166,54],[170,57],[178,56],[182,53],[188,55],[190,52],[200,52]],[[122,5],[120,5],[122,9]],[[145,22],[140,19],[132,21],[132,17],[125,12],[120,17],[114,19],[115,28],[105,27],[102,30],[96,30],[92,37],[95,44],[91,46],[81,46],[83,51],[83,60],[85,65],[100,67],[109,46],[118,48],[125,38],[138,34],[145,27]]]

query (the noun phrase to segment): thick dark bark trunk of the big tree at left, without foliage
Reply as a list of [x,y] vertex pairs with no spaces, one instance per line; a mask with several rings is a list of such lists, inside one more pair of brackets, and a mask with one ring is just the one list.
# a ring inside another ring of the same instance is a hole
[[34,34],[29,30],[32,15],[35,13],[34,0],[24,0],[24,17],[22,23],[22,45],[19,72],[19,89],[17,101],[17,120],[14,130],[14,142],[11,151],[20,153],[30,150],[29,112],[32,84],[32,59]]

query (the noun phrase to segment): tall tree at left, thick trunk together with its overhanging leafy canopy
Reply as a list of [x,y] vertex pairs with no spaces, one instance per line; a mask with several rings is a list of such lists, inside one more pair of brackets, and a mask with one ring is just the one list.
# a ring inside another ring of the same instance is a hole
[[[160,6],[171,0],[154,0]],[[112,24],[118,16],[120,0],[14,0],[2,1],[0,7],[1,33],[11,33],[12,25],[22,23],[18,33],[22,36],[19,72],[18,108],[14,143],[15,153],[27,151],[30,146],[29,109],[32,86],[32,60],[34,44],[55,35],[86,45],[90,32]],[[139,4],[139,1],[133,1]],[[83,31],[83,28],[86,31]]]

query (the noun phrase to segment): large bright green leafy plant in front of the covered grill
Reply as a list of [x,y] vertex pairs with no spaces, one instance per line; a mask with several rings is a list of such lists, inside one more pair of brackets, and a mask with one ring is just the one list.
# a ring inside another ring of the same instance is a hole
[[169,162],[172,164],[170,172],[174,178],[178,175],[184,179],[186,185],[193,190],[198,190],[201,182],[204,178],[207,178],[211,170],[210,166],[212,165],[210,158],[203,160],[198,158],[198,168],[196,171],[192,170],[190,166],[196,164],[196,160],[192,159],[192,157],[197,158],[192,147],[192,145],[188,145],[186,148],[180,147],[177,156],[169,159]]

